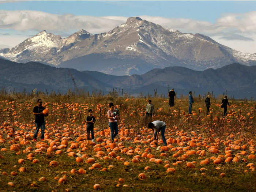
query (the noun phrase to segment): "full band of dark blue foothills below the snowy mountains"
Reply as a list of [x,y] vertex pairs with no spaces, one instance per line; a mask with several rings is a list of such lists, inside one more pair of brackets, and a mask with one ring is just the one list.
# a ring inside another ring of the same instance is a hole
[[256,95],[256,66],[245,66],[237,63],[218,69],[194,71],[185,67],[166,67],[153,69],[142,75],[114,76],[97,71],[78,71],[69,68],[56,68],[46,64],[29,62],[15,63],[0,59],[0,89],[7,91],[41,91],[66,92],[74,90],[74,83],[86,91],[123,89],[130,94],[147,95],[167,93],[174,88],[178,95],[187,95],[188,91],[207,94],[213,91],[217,96],[226,93],[235,98],[251,98]]

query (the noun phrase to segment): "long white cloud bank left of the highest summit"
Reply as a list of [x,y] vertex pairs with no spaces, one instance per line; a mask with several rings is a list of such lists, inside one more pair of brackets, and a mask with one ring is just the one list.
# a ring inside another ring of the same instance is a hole
[[90,33],[102,33],[123,23],[123,20],[72,14],[56,15],[42,11],[0,10],[0,29],[18,31],[46,30],[49,32],[73,32],[85,29]]

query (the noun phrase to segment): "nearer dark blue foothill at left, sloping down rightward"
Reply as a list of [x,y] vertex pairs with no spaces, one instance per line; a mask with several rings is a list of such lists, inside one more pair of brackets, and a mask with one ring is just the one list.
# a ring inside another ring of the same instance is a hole
[[26,84],[27,87],[33,85],[33,89],[67,91],[70,88],[74,89],[70,73],[75,78],[76,85],[79,88],[84,88],[88,91],[95,89],[108,90],[108,86],[105,83],[94,79],[90,75],[84,75],[75,69],[55,68],[35,62],[22,64],[1,59],[0,67],[2,82],[9,82],[8,84],[1,84],[1,87],[9,88],[9,90],[11,87],[15,87],[15,90],[23,90],[24,88],[19,86],[22,83]]

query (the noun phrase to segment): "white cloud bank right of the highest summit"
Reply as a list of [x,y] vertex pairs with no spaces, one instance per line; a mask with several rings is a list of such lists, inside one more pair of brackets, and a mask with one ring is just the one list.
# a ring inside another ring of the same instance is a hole
[[162,18],[146,15],[141,16],[141,18],[186,33],[207,35],[232,33],[241,35],[242,33],[255,33],[256,31],[256,11],[245,14],[225,14],[217,19],[215,23],[193,19]]

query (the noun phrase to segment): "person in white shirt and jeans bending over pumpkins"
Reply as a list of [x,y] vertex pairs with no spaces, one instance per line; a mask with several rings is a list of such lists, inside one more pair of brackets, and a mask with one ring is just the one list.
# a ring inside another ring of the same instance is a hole
[[161,136],[163,140],[163,144],[167,146],[166,139],[165,139],[165,128],[166,124],[163,121],[153,121],[152,123],[148,124],[148,128],[152,129],[154,140],[158,140],[159,131],[161,131]]

